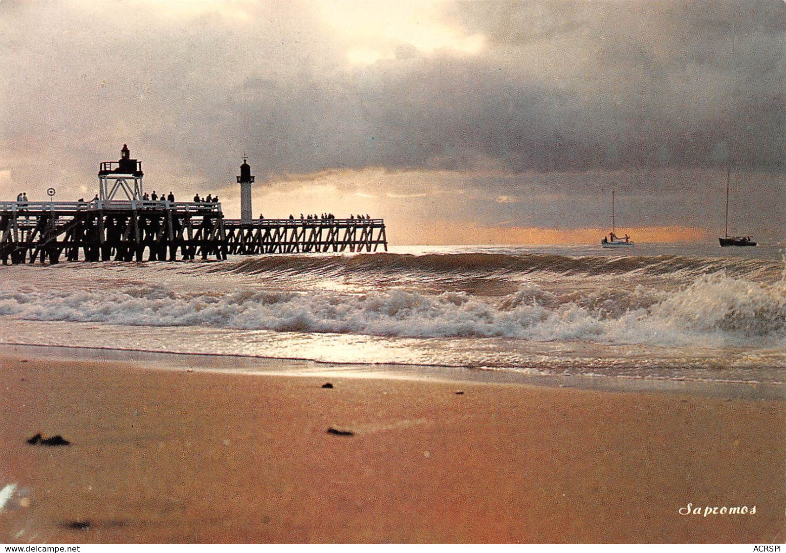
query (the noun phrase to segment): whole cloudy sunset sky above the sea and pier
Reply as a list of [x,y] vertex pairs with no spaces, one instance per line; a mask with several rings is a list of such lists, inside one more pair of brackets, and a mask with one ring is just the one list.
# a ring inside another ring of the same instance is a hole
[[0,197],[384,216],[406,243],[786,228],[786,3],[0,0]]

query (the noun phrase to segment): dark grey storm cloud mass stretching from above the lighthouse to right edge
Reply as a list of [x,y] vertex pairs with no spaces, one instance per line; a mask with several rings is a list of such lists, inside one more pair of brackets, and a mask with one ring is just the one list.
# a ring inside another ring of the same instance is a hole
[[274,173],[714,167],[729,151],[780,171],[784,16],[783,2],[468,2],[453,17],[487,37],[479,55],[402,46],[353,71],[252,74],[223,108]]

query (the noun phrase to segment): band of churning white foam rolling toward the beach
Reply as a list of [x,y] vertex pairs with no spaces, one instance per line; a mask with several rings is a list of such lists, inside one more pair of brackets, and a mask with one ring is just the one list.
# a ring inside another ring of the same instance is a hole
[[608,344],[758,345],[786,338],[786,286],[720,272],[676,289],[527,282],[502,297],[393,287],[365,293],[240,289],[191,292],[163,285],[106,289],[0,290],[0,315],[127,326],[397,337],[509,337]]

